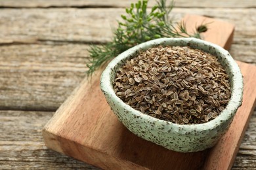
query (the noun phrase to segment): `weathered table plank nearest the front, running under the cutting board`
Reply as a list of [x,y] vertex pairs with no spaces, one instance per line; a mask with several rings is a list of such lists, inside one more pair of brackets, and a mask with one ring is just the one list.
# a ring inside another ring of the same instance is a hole
[[[98,169],[49,150],[41,128],[54,112],[0,110],[0,169]],[[256,112],[240,146],[232,169],[255,168]]]

